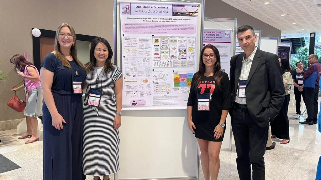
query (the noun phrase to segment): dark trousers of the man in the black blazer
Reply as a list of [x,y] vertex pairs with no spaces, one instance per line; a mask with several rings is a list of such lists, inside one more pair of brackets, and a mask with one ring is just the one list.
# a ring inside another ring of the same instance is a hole
[[[244,106],[244,105],[243,105]],[[232,107],[232,130],[236,147],[236,164],[240,180],[265,180],[264,154],[269,125],[260,127],[250,116],[246,105],[234,103]]]

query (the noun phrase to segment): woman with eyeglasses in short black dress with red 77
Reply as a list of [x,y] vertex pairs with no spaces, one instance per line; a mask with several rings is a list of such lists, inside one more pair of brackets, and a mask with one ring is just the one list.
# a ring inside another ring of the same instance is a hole
[[230,80],[221,71],[220,53],[215,46],[206,45],[201,51],[199,70],[193,76],[187,102],[188,127],[201,150],[205,180],[217,179],[230,107]]

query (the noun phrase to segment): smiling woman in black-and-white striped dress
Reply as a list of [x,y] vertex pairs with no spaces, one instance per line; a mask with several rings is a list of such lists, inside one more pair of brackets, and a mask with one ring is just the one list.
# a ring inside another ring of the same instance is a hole
[[123,74],[111,63],[113,52],[108,41],[96,38],[91,43],[83,109],[82,169],[94,180],[109,179],[119,170],[119,132]]

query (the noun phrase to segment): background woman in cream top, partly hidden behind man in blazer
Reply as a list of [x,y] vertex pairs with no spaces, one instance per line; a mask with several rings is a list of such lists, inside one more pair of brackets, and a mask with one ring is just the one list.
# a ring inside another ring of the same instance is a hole
[[279,57],[280,66],[282,69],[282,78],[283,84],[285,88],[285,99],[282,104],[282,108],[279,111],[278,115],[271,123],[271,138],[279,138],[282,139],[281,144],[290,143],[289,136],[289,118],[288,118],[288,109],[290,102],[290,86],[293,84],[289,60]]

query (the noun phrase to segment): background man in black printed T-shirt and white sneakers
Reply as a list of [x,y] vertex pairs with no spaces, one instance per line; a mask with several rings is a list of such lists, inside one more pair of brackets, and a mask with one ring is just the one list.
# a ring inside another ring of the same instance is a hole
[[301,74],[301,71],[305,72],[306,70],[303,69],[303,64],[301,61],[298,61],[296,65],[297,65],[297,69],[292,71],[292,79],[293,79],[293,85],[294,85],[293,93],[295,97],[295,111],[297,114],[295,119],[300,119],[301,96],[303,98],[303,102],[305,102],[305,96],[303,91],[304,79],[303,79],[303,74]]

